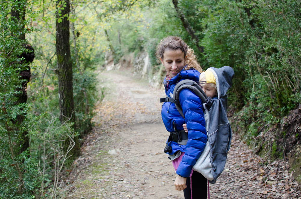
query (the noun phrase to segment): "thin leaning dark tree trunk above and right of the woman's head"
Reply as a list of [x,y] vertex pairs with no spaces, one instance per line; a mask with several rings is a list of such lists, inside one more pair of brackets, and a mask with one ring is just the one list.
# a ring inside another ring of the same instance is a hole
[[199,45],[200,40],[197,37],[194,29],[191,27],[191,25],[189,24],[188,20],[186,19],[185,15],[182,13],[182,11],[178,8],[178,0],[172,0],[172,3],[175,6],[175,10],[178,13],[178,17],[181,19],[184,28],[187,30],[188,34],[192,37],[192,39],[195,40],[194,43],[197,46],[197,49],[201,53],[203,53],[204,52],[204,47]]

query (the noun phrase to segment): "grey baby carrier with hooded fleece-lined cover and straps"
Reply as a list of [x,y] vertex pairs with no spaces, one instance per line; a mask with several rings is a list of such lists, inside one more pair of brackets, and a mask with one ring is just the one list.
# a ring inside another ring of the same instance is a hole
[[[216,79],[217,98],[207,98],[199,82],[185,79],[175,85],[173,99],[169,97],[161,98],[160,102],[169,101],[175,103],[175,107],[184,118],[182,107],[178,100],[180,91],[182,89],[191,89],[200,97],[203,102],[206,121],[207,142],[200,158],[198,158],[192,168],[206,177],[210,183],[215,183],[217,177],[224,170],[227,153],[231,145],[232,133],[227,118],[228,97],[226,93],[232,85],[234,70],[229,66],[219,69],[210,67],[207,70],[210,70]],[[188,139],[188,137],[185,139]],[[183,141],[185,142],[186,140],[182,139]]]

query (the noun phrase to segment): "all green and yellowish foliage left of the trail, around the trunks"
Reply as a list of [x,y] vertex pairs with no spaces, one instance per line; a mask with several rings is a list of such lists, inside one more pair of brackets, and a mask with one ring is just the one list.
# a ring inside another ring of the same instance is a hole
[[[27,20],[16,23],[17,21],[9,14],[14,2],[1,3],[3,13],[0,28],[3,34],[0,35],[0,197],[53,198],[57,194],[59,176],[66,166],[70,168],[73,163],[68,154],[70,149],[79,147],[74,146],[73,141],[78,139],[79,134],[87,133],[92,128],[91,119],[97,98],[96,78],[92,71],[95,70],[97,61],[101,60],[95,58],[95,55],[101,53],[92,51],[97,45],[91,46],[91,39],[80,37],[77,46],[78,60],[83,73],[79,72],[75,61],[73,70],[78,125],[75,132],[71,128],[72,124],[61,124],[58,119],[58,85],[54,70],[57,60],[53,51],[55,34],[51,33],[55,31],[53,30],[55,6],[50,6],[51,2],[45,1],[41,7],[43,10],[38,10],[34,6],[39,2],[32,2],[33,4],[27,5],[29,16],[27,19],[30,23],[27,23]],[[16,6],[21,7],[20,4]],[[48,8],[49,13],[45,12]],[[45,29],[39,26],[39,22],[33,21],[40,19],[45,20]],[[25,29],[22,29],[23,24]],[[32,33],[38,29],[41,29],[41,33]],[[83,29],[81,31],[84,32]],[[50,36],[44,37],[45,32]],[[26,36],[31,39],[35,49],[35,63],[40,66],[30,67],[31,81],[26,87],[27,103],[17,103],[18,97],[23,93],[21,85],[25,83],[25,80],[19,78],[19,73],[29,69],[24,58],[20,57],[25,51],[23,44],[27,41],[16,37],[23,33],[27,33]],[[39,35],[43,35],[44,41]],[[74,47],[72,51],[74,52]],[[76,57],[73,59],[76,60]],[[87,93],[86,96],[83,95],[83,90]],[[87,111],[86,102],[88,102]],[[22,123],[18,122],[20,117],[23,118]],[[22,137],[24,131],[30,137],[30,147],[19,153],[21,150],[19,143],[25,140]],[[62,150],[66,143],[67,148]]]

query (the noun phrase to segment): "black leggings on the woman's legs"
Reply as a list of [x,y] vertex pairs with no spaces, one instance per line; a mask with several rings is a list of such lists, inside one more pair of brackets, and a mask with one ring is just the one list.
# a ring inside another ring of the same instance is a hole
[[[192,199],[206,199],[207,198],[207,179],[197,171],[193,171],[192,176]],[[190,177],[186,180],[187,188],[184,191],[185,199],[191,199],[190,192]]]

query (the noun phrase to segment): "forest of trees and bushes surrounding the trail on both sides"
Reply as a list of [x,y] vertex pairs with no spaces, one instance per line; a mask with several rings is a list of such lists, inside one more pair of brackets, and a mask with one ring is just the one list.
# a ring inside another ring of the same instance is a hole
[[[301,3],[297,0],[1,0],[0,197],[56,198],[94,124],[108,54],[181,37],[203,69],[231,66],[232,130],[256,154],[293,158],[301,182]],[[299,171],[298,171],[299,169]]]

